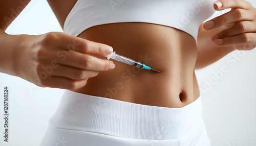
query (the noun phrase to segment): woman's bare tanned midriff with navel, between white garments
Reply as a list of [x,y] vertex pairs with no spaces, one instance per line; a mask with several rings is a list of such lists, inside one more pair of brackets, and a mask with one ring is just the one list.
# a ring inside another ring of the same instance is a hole
[[161,72],[113,60],[113,70],[100,71],[75,92],[170,108],[184,107],[200,95],[194,71],[196,41],[181,30],[153,23],[121,22],[91,27],[78,37],[108,44],[117,54]]

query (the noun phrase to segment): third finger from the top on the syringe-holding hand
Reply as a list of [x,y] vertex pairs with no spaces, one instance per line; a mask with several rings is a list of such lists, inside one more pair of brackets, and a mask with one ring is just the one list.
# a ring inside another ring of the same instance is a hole
[[83,80],[96,77],[99,71],[84,70],[59,64],[53,69],[52,76],[66,77],[74,80]]

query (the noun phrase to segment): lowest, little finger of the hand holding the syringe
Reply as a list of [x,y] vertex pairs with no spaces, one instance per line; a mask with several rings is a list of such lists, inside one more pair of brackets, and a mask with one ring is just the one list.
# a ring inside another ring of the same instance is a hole
[[41,80],[41,85],[50,88],[61,88],[68,90],[75,90],[81,88],[87,84],[88,79],[84,80],[72,80],[65,77],[52,76],[45,80]]

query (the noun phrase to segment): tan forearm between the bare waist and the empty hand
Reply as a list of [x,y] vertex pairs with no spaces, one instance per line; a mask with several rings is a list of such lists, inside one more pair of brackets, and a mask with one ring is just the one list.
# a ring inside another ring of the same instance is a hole
[[200,26],[198,34],[197,62],[195,69],[199,69],[214,63],[228,53],[234,51],[233,46],[217,46],[213,41],[211,41],[211,36],[217,34],[223,29],[224,27],[206,31],[202,25]]

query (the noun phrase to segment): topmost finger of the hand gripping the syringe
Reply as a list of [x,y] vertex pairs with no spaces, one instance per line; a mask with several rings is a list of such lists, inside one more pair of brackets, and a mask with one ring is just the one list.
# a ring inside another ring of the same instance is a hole
[[113,48],[109,45],[72,35],[63,35],[62,40],[67,42],[65,44],[60,44],[65,50],[72,50],[83,54],[93,54],[99,56],[105,56],[113,53]]

